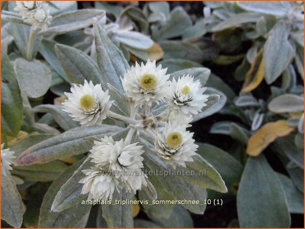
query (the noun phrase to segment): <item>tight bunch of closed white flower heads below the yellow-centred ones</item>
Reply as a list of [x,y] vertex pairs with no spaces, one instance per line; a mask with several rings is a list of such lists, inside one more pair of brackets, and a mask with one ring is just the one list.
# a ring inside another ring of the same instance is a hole
[[84,184],[82,194],[89,193],[88,200],[111,199],[114,190],[120,192],[122,188],[136,194],[142,185],[147,186],[147,176],[141,170],[142,146],[107,136],[94,144],[89,157],[95,166],[83,170],[86,176],[80,180]]

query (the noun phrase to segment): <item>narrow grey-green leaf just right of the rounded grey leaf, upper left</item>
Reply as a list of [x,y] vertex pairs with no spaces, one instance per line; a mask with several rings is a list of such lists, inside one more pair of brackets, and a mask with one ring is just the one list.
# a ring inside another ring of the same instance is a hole
[[56,44],[57,43],[53,40],[42,39],[41,45],[39,47],[39,53],[61,77],[63,77],[67,82],[69,82],[65,70],[56,56],[55,53]]

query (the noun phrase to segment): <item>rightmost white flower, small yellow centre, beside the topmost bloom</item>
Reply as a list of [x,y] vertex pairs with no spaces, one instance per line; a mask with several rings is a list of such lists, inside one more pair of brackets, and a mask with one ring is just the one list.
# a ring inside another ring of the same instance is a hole
[[201,112],[203,106],[206,106],[204,102],[207,101],[208,96],[203,95],[205,90],[199,80],[194,82],[194,77],[183,75],[177,81],[172,79],[165,100],[171,110],[179,115],[196,115]]

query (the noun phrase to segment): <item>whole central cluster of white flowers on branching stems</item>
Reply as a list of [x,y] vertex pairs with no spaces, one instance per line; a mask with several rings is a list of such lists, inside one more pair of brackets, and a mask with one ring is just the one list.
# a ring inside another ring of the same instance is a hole
[[[89,193],[88,199],[112,198],[115,190],[125,188],[136,193],[147,185],[147,176],[142,173],[144,152],[142,146],[131,144],[135,131],[141,129],[152,137],[153,151],[173,168],[186,166],[192,162],[198,146],[193,139],[193,133],[186,129],[190,127],[193,115],[206,106],[208,96],[203,95],[199,80],[190,75],[172,78],[167,74],[167,68],[156,66],[150,60],[144,65],[132,66],[121,78],[125,95],[131,106],[131,116],[125,117],[112,111],[108,91],[103,91],[100,84],[94,85],[85,81],[84,85],[71,87],[71,93],[63,103],[63,110],[68,112],[81,125],[100,125],[106,118],[115,118],[129,123],[130,131],[125,140],[114,141],[105,136],[101,141],[95,141],[89,157],[95,165],[85,169],[82,194]],[[154,116],[150,108],[154,103],[165,101],[168,109]],[[145,111],[138,112],[143,105]]]

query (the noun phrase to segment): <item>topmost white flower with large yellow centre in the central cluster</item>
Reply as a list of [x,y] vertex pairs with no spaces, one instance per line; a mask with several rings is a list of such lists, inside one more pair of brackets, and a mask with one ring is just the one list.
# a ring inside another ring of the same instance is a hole
[[149,106],[152,102],[159,103],[169,86],[169,74],[166,72],[167,68],[162,68],[162,65],[156,67],[156,61],[148,60],[146,65],[136,63],[122,79],[126,96],[135,101],[135,106],[146,102]]

